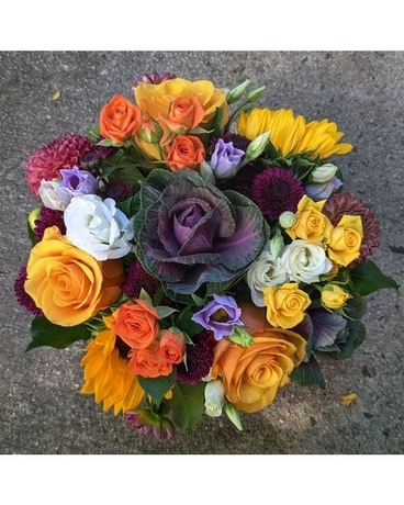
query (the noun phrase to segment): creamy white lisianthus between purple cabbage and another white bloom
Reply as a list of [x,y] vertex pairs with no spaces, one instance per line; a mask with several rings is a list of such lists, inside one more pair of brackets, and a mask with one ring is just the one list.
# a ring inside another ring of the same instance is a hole
[[262,290],[270,285],[283,284],[287,280],[288,276],[280,258],[274,258],[268,249],[263,249],[252,261],[246,274],[251,300],[259,307],[265,306]]

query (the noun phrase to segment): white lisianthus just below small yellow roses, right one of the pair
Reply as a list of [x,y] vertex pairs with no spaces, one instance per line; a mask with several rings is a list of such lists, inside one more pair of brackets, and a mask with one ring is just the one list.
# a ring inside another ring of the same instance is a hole
[[280,258],[281,265],[290,280],[311,284],[317,282],[319,276],[333,268],[321,244],[296,239],[289,244]]

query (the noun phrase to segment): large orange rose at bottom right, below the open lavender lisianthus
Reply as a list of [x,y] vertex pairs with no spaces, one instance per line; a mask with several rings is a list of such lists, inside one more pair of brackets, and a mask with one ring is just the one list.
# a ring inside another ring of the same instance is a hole
[[214,348],[212,380],[221,379],[227,400],[238,411],[257,412],[273,402],[280,386],[304,356],[306,340],[280,328],[254,332],[254,344],[242,347],[222,338]]

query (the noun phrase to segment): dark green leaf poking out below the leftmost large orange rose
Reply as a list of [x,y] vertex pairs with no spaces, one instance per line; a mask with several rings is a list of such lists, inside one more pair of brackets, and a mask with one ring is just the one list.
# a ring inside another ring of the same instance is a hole
[[26,351],[42,346],[65,349],[77,340],[87,340],[91,337],[91,332],[85,325],[58,326],[46,317],[38,316],[31,323],[31,337]]

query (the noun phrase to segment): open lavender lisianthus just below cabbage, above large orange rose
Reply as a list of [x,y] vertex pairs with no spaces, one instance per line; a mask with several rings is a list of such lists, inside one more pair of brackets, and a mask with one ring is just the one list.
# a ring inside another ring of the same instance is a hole
[[234,326],[243,326],[242,310],[233,296],[214,294],[213,300],[192,316],[192,321],[213,332],[215,340],[228,337]]

